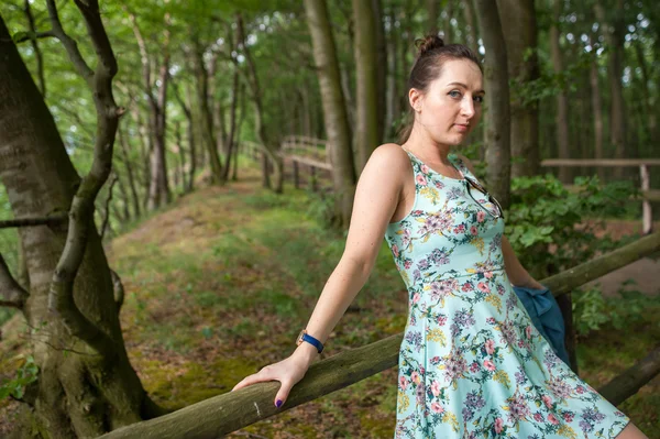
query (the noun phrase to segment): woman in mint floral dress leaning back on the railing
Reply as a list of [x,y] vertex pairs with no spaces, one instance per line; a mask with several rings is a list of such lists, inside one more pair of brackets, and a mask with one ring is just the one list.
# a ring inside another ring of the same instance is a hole
[[482,113],[483,74],[465,46],[421,41],[414,122],[378,146],[355,193],[344,253],[294,353],[238,383],[279,381],[280,407],[362,288],[383,237],[408,289],[396,438],[646,438],[575,375],[531,323],[513,285],[543,288],[503,234],[503,212],[450,154]]

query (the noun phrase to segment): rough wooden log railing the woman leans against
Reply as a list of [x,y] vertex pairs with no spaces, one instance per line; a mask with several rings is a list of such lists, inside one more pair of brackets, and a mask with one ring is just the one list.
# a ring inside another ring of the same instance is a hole
[[[660,250],[660,233],[645,237],[606,255],[541,281],[554,296],[566,294],[587,282]],[[362,348],[348,350],[312,364],[292,389],[286,403],[275,408],[278,382],[251,385],[193,404],[160,418],[111,431],[103,439],[197,439],[217,438],[284,410],[350,386],[397,364],[403,333]],[[660,347],[634,366],[614,377],[598,392],[618,405],[660,373]],[[393,383],[393,385],[396,385]]]

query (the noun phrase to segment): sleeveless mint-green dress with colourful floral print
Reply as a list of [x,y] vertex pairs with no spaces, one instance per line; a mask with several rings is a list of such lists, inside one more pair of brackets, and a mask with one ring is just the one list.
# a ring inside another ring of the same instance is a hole
[[557,356],[514,293],[497,208],[406,153],[415,202],[385,232],[408,290],[395,438],[616,437],[630,419]]

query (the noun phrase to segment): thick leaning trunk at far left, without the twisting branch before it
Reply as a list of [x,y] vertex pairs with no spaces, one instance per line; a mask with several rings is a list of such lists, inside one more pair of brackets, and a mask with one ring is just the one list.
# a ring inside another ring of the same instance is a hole
[[[0,53],[0,179],[12,211],[16,218],[66,212],[80,178],[1,18]],[[75,277],[72,306],[99,331],[100,340],[108,340],[101,347],[103,355],[72,334],[64,315],[50,309],[54,271],[65,242],[69,244],[67,228],[35,226],[21,228],[20,234],[26,243],[30,275],[23,314],[32,328],[40,328],[30,340],[38,376],[22,399],[30,418],[26,433],[96,437],[153,416],[151,400],[129,363],[110,270],[94,223]]]

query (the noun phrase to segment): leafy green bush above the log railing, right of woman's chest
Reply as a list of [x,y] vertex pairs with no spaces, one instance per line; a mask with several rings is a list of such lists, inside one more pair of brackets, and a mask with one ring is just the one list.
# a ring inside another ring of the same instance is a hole
[[616,246],[596,237],[597,218],[616,216],[636,190],[597,177],[575,178],[572,190],[551,175],[514,178],[506,234],[535,277],[559,273]]

